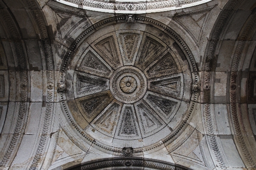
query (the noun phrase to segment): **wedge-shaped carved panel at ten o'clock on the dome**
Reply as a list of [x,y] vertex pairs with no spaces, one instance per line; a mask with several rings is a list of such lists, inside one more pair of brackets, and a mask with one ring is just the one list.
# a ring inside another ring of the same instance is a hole
[[96,57],[96,55],[94,55],[94,53],[91,52],[91,50],[89,50],[85,54],[79,68],[82,70],[86,70],[88,72],[95,72],[101,75],[109,75],[110,73],[109,68],[106,65],[104,65],[104,63],[100,61]]

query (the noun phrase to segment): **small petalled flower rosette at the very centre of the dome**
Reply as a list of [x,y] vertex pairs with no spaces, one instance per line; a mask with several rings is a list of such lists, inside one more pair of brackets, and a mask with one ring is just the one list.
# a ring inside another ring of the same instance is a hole
[[136,80],[131,76],[126,76],[120,81],[120,88],[125,93],[134,92],[137,87]]

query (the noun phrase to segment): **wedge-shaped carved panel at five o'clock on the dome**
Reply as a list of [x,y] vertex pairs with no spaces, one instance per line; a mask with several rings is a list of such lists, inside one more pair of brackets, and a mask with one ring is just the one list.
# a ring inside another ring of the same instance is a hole
[[138,104],[137,109],[144,135],[157,131],[162,127],[161,121],[144,104]]

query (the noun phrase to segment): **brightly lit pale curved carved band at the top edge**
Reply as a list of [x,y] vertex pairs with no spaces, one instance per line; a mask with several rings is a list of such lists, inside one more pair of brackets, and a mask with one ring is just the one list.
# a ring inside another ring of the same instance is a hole
[[183,9],[207,3],[211,0],[117,0],[115,3],[100,0],[56,0],[77,8],[119,14],[143,14]]

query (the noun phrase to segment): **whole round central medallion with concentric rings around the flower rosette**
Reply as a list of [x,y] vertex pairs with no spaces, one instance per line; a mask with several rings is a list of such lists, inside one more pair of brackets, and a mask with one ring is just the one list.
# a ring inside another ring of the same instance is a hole
[[140,100],[147,90],[147,78],[135,66],[122,66],[110,78],[110,91],[121,102],[134,103]]

